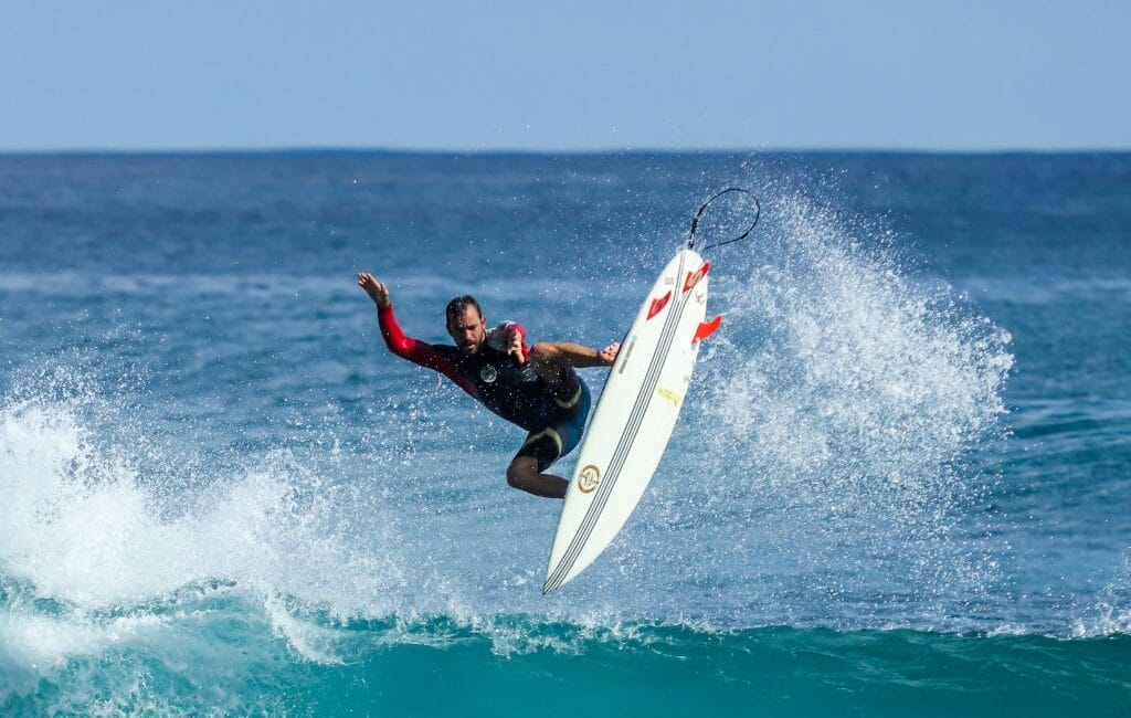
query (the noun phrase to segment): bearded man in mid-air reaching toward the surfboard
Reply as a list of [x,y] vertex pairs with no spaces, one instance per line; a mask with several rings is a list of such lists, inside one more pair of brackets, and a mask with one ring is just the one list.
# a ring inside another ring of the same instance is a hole
[[562,499],[564,478],[545,474],[551,464],[577,447],[589,414],[589,389],[575,369],[611,366],[620,351],[602,351],[568,341],[526,344],[526,329],[504,322],[490,331],[478,302],[457,296],[444,311],[456,346],[428,344],[405,336],[392,313],[389,288],[361,273],[357,285],[377,305],[377,322],[389,351],[438,371],[490,410],[529,432],[507,468],[507,483],[537,496]]

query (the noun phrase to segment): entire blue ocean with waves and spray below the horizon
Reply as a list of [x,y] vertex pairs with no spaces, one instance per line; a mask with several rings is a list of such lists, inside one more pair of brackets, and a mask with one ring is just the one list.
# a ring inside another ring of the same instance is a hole
[[[525,433],[355,275],[604,346],[732,184],[673,441],[543,597]],[[1129,154],[0,156],[0,713],[1131,715],[1129,377]]]

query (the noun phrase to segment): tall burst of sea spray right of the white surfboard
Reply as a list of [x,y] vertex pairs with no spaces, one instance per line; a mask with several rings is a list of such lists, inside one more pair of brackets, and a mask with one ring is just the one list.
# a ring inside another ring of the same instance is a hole
[[793,193],[769,198],[727,265],[692,421],[708,512],[758,553],[753,596],[847,624],[947,624],[998,572],[958,524],[985,478],[964,457],[1005,410],[1009,334],[910,279],[888,233]]

